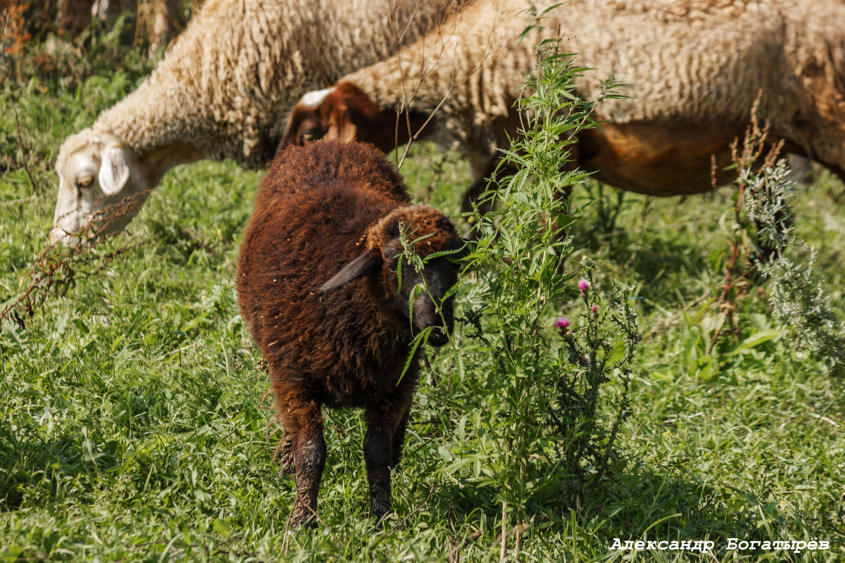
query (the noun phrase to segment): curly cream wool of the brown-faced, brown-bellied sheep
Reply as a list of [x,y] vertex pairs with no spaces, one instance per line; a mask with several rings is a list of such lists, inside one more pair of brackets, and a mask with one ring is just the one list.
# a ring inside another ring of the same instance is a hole
[[[533,4],[542,14],[556,3]],[[577,53],[575,63],[591,68],[580,95],[596,99],[611,75],[626,84],[619,92],[629,97],[606,100],[597,113],[613,126],[641,127],[638,142],[677,127],[671,140],[683,143],[695,127],[696,143],[721,147],[742,133],[762,91],[757,115],[788,147],[845,171],[842,0],[572,0],[519,41],[532,21],[520,13],[531,4],[478,0],[341,82],[382,108],[430,113],[445,97],[436,114],[439,142],[486,158],[503,146],[503,120],[537,64],[534,46],[560,33],[560,51]],[[624,178],[616,180],[624,187]]]

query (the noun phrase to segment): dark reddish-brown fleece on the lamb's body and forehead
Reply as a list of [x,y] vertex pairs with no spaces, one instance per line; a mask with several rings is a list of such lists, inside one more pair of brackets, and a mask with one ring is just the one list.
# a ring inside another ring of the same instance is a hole
[[[325,371],[323,364],[336,358],[360,362],[378,352],[365,370],[378,379],[379,365],[396,358],[404,364],[407,319],[397,330],[394,316],[373,316],[370,298],[362,296],[368,293],[364,280],[336,294],[318,290],[365,248],[384,244],[384,218],[397,208],[394,223],[406,219],[419,226],[412,242],[424,237],[417,249],[423,257],[460,246],[444,214],[409,202],[401,175],[371,145],[319,142],[287,149],[274,161],[255,199],[237,273],[244,320],[271,368]],[[362,303],[365,311],[358,311]],[[369,319],[363,329],[362,319]],[[390,345],[377,344],[383,341]],[[389,352],[382,355],[382,349]]]

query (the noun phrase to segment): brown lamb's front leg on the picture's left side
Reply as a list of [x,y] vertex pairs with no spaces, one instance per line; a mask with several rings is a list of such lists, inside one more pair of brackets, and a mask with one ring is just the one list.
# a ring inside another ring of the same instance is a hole
[[293,463],[296,464],[297,501],[291,526],[313,522],[317,514],[317,491],[325,467],[325,440],[320,404],[313,400],[280,402],[281,424],[291,436]]

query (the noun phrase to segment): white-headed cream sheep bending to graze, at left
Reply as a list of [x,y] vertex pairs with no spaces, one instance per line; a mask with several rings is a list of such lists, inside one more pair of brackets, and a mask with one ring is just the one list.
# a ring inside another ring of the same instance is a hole
[[[149,192],[175,165],[207,158],[263,167],[304,92],[390,56],[460,3],[208,0],[138,89],[63,144],[51,240],[70,240],[89,213]],[[80,154],[95,171],[87,186],[66,165]],[[101,178],[101,162],[127,173]]]

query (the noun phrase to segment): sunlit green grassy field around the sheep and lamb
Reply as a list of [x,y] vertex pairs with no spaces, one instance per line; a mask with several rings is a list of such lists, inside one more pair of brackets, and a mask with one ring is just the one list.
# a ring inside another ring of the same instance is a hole
[[[3,83],[0,302],[19,295],[46,243],[63,138],[153,66],[106,47],[79,79],[60,66]],[[123,70],[112,72],[116,58]],[[457,217],[468,180],[457,155],[420,144],[402,172],[416,201]],[[319,526],[286,533],[293,481],[277,476],[281,429],[233,284],[262,175],[228,162],[171,171],[128,235],[98,247],[100,262],[80,265],[64,295],[49,295],[25,328],[3,322],[0,560],[499,560],[486,448],[491,434],[520,429],[491,406],[488,366],[461,323],[455,349],[427,352],[385,529],[366,516],[361,413],[334,411]],[[843,190],[814,170],[793,193],[796,230],[818,252],[814,271],[839,317]],[[599,261],[600,290],[612,278],[635,286],[644,339],[619,433],[625,463],[578,509],[554,490],[535,495],[521,560],[845,558],[845,382],[796,349],[765,287],[737,296],[739,332],[711,345],[732,194],[620,199],[595,182],[576,188],[576,205],[592,202],[572,230],[578,255]],[[458,317],[474,283],[465,277]],[[574,302],[555,308],[578,316]],[[716,547],[637,552],[613,549],[617,539]],[[729,539],[829,549],[728,549]]]

